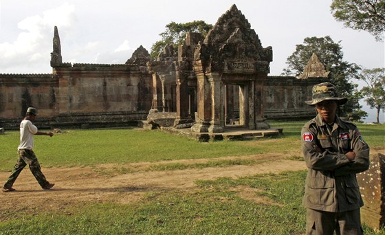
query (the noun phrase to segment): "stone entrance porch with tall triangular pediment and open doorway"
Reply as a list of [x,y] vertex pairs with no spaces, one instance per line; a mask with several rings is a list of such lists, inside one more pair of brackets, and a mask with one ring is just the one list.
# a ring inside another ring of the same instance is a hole
[[239,89],[239,123],[250,129],[269,128],[263,118],[263,84],[271,61],[272,47],[262,47],[248,20],[232,5],[194,52],[199,101],[192,130],[224,131],[232,86]]

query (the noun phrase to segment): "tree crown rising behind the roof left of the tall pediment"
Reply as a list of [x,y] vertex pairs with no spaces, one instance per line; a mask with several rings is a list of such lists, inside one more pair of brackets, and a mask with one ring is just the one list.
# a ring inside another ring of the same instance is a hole
[[188,23],[171,22],[166,25],[166,31],[159,34],[162,36],[161,41],[157,41],[151,47],[151,57],[157,58],[157,55],[162,52],[162,49],[167,44],[173,45],[177,49],[178,45],[182,45],[186,40],[187,32],[199,32],[206,36],[212,25],[205,21],[192,21]]

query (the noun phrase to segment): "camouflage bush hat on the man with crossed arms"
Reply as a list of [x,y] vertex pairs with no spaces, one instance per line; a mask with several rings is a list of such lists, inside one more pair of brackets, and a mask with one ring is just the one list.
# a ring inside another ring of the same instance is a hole
[[324,100],[337,100],[339,104],[345,104],[348,99],[338,97],[336,87],[330,82],[322,82],[314,85],[311,98],[313,100],[305,101],[309,105],[316,105]]

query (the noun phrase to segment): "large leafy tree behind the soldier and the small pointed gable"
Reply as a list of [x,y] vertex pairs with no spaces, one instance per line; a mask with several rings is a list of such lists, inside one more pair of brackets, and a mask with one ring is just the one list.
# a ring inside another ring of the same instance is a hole
[[283,69],[283,75],[299,76],[313,53],[325,65],[325,70],[330,71],[330,82],[340,91],[339,95],[348,98],[340,115],[347,115],[353,120],[366,117],[367,113],[361,110],[362,106],[358,102],[361,98],[360,93],[357,92],[358,85],[349,82],[352,78],[357,78],[360,67],[342,60],[344,54],[340,42],[335,43],[330,36],[308,37],[304,39],[303,44],[296,45],[296,51],[287,58],[288,66]]

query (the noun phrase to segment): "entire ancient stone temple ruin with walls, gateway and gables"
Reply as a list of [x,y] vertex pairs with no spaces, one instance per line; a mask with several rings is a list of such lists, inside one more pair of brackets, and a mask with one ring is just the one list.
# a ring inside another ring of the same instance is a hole
[[214,137],[234,127],[270,130],[267,120],[314,117],[305,100],[328,76],[317,56],[299,78],[269,76],[272,60],[272,47],[263,47],[236,5],[206,38],[189,33],[156,60],[140,46],[118,65],[63,62],[55,27],[52,74],[0,74],[0,127],[17,128],[30,106],[42,128],[139,124]]

